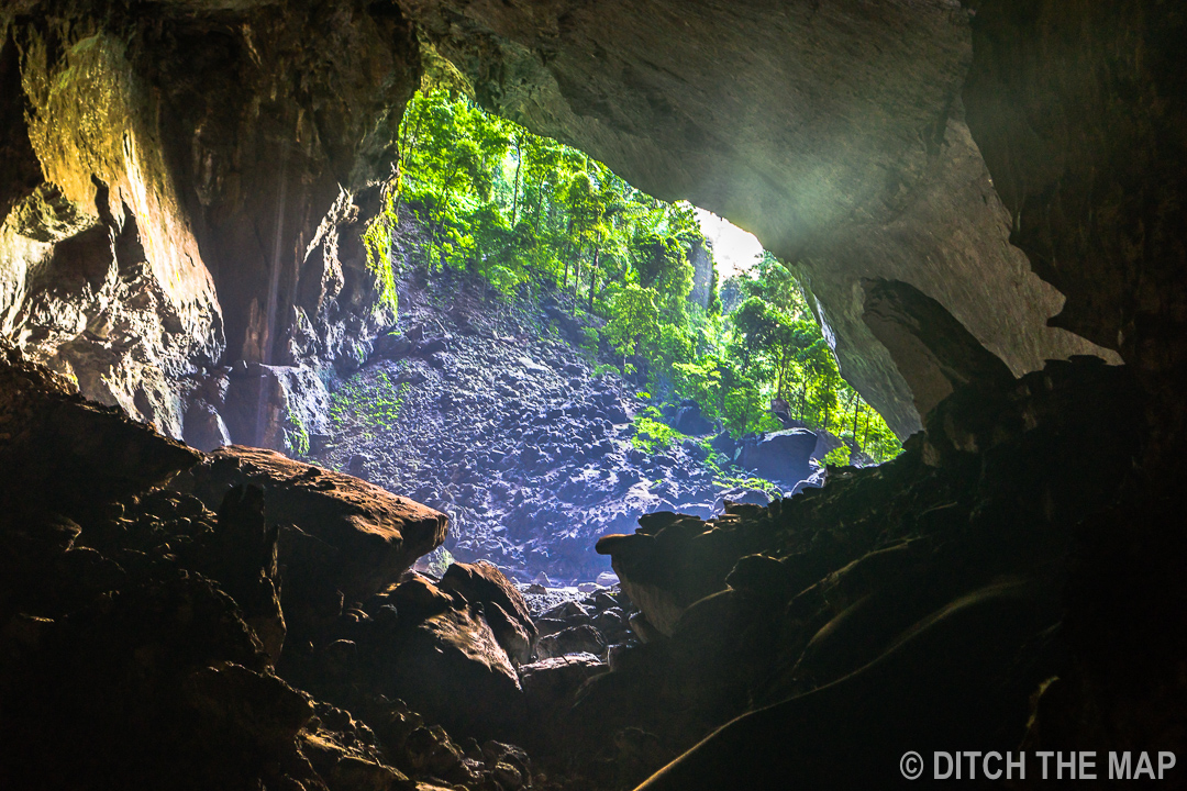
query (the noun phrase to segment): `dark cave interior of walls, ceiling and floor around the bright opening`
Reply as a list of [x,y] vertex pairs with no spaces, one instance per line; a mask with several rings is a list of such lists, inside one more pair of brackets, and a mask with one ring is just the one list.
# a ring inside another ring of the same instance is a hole
[[[1183,40],[1134,0],[5,4],[0,787],[1187,787]],[[323,447],[328,383],[464,357],[474,283],[374,267],[434,81],[753,232],[902,453],[573,524],[547,568],[614,585],[541,612]]]

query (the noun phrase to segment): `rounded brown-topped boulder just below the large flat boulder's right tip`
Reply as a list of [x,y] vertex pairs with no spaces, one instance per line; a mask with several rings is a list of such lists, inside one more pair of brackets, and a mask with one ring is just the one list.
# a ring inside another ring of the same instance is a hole
[[515,664],[532,659],[537,630],[527,602],[503,573],[491,563],[451,563],[438,583],[442,591],[459,593],[471,604],[482,604],[495,639]]

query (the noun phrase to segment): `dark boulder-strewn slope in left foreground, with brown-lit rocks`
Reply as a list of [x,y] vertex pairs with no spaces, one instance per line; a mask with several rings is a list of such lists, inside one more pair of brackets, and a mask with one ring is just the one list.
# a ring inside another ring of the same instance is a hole
[[508,741],[633,642],[621,593],[533,619],[490,564],[431,581],[444,515],[203,457],[17,352],[0,461],[0,786],[588,787]]

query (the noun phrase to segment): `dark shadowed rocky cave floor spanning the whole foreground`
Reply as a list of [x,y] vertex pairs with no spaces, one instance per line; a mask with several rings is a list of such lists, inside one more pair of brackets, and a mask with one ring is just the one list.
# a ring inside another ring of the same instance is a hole
[[891,463],[642,516],[597,546],[621,587],[542,608],[411,570],[438,511],[6,355],[0,785],[856,791],[906,749],[1174,751],[1183,540],[1130,489],[1135,397],[1090,359],[973,382]]

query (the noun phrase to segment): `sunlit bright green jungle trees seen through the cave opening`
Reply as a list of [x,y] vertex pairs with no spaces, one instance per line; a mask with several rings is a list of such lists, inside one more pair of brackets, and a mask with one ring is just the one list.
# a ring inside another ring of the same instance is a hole
[[[901,449],[842,378],[804,291],[773,255],[725,283],[713,268],[707,306],[690,300],[693,256],[712,256],[690,204],[653,198],[443,89],[410,102],[400,152],[387,209],[367,235],[385,287],[389,235],[411,216],[425,241],[404,266],[470,272],[497,299],[566,295],[592,327],[590,359],[637,382],[655,417],[665,402],[691,398],[735,436],[799,421],[840,436],[855,460]],[[848,461],[848,449],[830,460]]]

